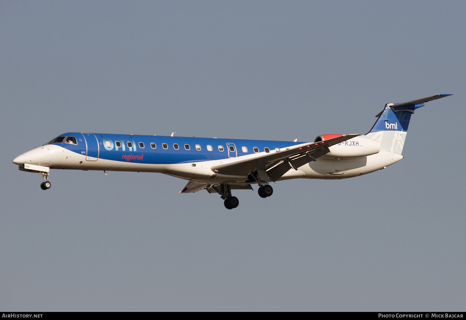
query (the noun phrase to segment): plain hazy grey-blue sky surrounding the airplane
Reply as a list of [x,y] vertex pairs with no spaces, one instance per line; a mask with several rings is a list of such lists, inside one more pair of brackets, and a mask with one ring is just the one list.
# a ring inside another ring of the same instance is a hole
[[[1,1],[0,309],[465,310],[464,1]],[[236,191],[17,170],[67,131],[313,141],[429,95],[404,159]]]

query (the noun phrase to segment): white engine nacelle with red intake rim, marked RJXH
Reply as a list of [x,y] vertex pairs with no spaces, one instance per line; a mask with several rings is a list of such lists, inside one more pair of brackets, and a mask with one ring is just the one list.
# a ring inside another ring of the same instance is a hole
[[[321,135],[315,137],[314,142],[328,140],[343,135]],[[356,136],[329,147],[330,152],[322,156],[328,159],[349,159],[367,157],[380,151],[380,143],[365,136]]]

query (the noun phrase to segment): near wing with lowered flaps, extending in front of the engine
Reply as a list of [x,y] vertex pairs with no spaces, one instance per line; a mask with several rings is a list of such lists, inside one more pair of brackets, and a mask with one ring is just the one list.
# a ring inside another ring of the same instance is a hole
[[327,154],[330,146],[355,136],[359,135],[342,135],[318,143],[303,143],[282,148],[280,151],[270,150],[270,153],[259,157],[220,164],[211,169],[216,173],[232,176],[247,176],[254,171],[266,170],[268,177],[272,181],[277,181],[290,168],[298,170],[302,165]]

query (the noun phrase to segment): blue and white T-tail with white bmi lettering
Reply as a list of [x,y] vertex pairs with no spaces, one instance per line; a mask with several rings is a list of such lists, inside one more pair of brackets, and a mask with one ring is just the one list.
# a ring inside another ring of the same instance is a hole
[[401,155],[411,115],[414,110],[423,107],[425,102],[440,99],[448,95],[431,97],[403,103],[387,103],[376,116],[377,121],[364,136],[380,143],[380,150],[387,150]]

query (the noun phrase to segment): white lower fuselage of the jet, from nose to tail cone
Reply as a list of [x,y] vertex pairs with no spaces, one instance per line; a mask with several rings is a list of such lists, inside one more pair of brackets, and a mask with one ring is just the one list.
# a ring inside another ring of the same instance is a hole
[[[348,142],[351,143],[352,141],[356,140],[359,140],[359,143],[361,143],[360,137],[348,140]],[[371,141],[377,143],[377,145],[380,146],[380,143],[376,142],[375,140]],[[367,144],[368,143],[366,143],[366,145]],[[340,148],[340,151],[336,147],[337,146],[333,146],[332,150],[334,150],[334,153],[343,152],[344,154],[345,151],[342,149],[343,147]],[[373,152],[375,149],[373,146],[371,147]],[[380,147],[378,150],[380,150]],[[273,152],[279,151],[270,150],[270,153]],[[247,180],[247,176],[215,175],[210,168],[220,164],[233,163],[243,159],[260,156],[261,154],[264,154],[264,152],[234,158],[200,162],[194,161],[190,163],[134,163],[101,158],[89,158],[84,154],[70,151],[58,145],[46,144],[16,157],[14,159],[14,163],[19,165],[30,163],[49,167],[50,169],[158,172],[174,177],[211,184],[244,184],[244,181]],[[288,172],[285,173],[279,180],[295,178],[343,179],[356,177],[383,169],[401,160],[402,158],[403,156],[401,156],[401,154],[387,150],[380,150],[377,153],[371,154],[369,156],[354,158],[336,158],[335,156],[332,156],[332,152],[330,152],[326,155],[326,157],[320,157],[316,161],[306,163],[297,168],[298,170],[290,168],[290,170],[288,170]]]

